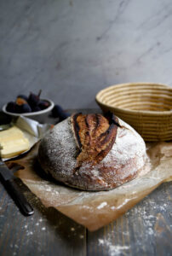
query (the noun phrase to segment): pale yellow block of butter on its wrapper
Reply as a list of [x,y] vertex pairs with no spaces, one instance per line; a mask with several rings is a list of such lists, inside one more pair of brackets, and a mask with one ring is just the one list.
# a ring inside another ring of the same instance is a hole
[[0,131],[2,158],[10,158],[30,149],[30,143],[24,133],[16,126]]

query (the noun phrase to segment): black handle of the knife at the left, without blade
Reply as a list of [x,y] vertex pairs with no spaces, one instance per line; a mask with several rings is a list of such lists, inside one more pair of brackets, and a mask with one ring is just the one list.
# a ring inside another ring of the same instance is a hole
[[25,195],[20,191],[20,187],[15,183],[14,179],[7,180],[6,185],[10,190],[9,192],[11,192],[10,195],[13,197],[18,207],[20,207],[20,211],[27,216],[32,215],[34,213],[33,208],[26,200]]

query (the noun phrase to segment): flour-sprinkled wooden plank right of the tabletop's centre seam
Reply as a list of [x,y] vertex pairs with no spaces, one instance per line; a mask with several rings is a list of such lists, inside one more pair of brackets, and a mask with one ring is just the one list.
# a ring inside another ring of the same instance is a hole
[[88,255],[171,255],[172,183],[163,183],[117,221],[88,232]]

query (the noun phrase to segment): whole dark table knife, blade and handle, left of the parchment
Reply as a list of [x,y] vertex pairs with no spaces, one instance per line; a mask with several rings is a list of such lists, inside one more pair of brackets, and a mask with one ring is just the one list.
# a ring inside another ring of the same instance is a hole
[[5,188],[14,199],[16,205],[20,208],[20,211],[27,216],[32,215],[34,213],[33,208],[26,200],[25,195],[21,192],[19,185],[16,183],[17,178],[1,159],[0,177],[2,177]]

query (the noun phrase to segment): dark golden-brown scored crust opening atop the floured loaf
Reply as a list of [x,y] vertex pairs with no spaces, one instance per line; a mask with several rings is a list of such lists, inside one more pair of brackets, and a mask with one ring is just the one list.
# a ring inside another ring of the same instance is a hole
[[100,163],[115,142],[118,119],[114,115],[77,113],[72,116],[72,125],[79,148],[77,167],[83,162],[91,162],[93,166]]

